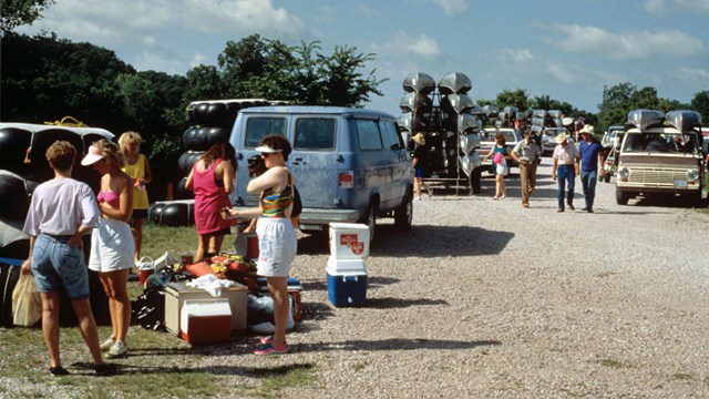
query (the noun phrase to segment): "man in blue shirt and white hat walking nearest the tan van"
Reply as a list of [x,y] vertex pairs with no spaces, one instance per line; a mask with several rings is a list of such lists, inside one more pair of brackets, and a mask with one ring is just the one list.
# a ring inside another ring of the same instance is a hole
[[[586,206],[584,212],[594,213],[594,198],[596,196],[596,181],[598,177],[598,165],[603,165],[605,155],[603,145],[594,136],[594,126],[587,124],[580,131],[582,141],[578,144],[580,154],[580,184],[584,188]],[[606,171],[600,167],[600,175],[605,176]]]

